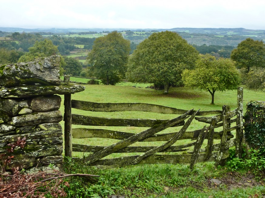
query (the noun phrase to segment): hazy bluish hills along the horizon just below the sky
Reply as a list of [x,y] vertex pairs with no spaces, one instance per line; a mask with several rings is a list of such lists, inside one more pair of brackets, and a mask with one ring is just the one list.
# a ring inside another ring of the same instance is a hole
[[[190,44],[195,45],[230,45],[237,46],[241,41],[247,37],[251,37],[255,40],[265,41],[265,30],[250,30],[245,28],[172,28],[172,29],[125,29],[125,28],[36,28],[36,29],[25,29],[25,28],[1,28],[0,37],[6,37],[8,34],[14,32],[27,32],[27,33],[39,33],[41,35],[61,35],[71,37],[95,37],[94,33],[108,33],[117,30],[122,32],[123,36],[139,44],[141,41],[146,39],[153,32],[160,31],[176,31],[180,36],[188,41]],[[130,30],[130,31],[129,31]],[[89,33],[90,32],[90,33]],[[128,34],[130,33],[130,34]],[[81,35],[82,34],[82,35]],[[84,35],[91,34],[91,35]],[[80,43],[83,44],[83,43]]]

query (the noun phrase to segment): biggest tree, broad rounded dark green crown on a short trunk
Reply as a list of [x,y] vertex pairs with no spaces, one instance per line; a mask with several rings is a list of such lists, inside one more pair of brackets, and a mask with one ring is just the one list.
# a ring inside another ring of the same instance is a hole
[[168,93],[169,84],[182,84],[182,71],[194,67],[198,54],[175,32],[153,33],[134,50],[126,77],[132,82],[163,84]]

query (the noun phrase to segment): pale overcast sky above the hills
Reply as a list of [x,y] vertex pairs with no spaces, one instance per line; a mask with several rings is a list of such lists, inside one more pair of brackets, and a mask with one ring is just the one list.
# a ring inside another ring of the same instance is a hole
[[0,27],[265,30],[265,0],[0,0]]

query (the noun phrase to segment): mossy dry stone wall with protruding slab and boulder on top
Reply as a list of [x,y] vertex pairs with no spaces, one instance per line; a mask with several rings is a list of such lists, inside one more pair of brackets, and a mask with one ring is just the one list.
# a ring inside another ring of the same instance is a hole
[[59,124],[63,119],[59,111],[62,99],[56,94],[72,94],[85,87],[60,83],[59,61],[55,55],[0,65],[2,170],[45,168],[49,164],[60,167],[63,163],[63,131]]

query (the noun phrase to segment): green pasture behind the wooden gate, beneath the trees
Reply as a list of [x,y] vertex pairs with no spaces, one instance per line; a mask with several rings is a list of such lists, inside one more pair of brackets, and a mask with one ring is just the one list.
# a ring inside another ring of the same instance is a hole
[[[88,79],[74,78],[71,77],[73,81],[87,82]],[[132,87],[136,85],[136,87]],[[86,87],[85,91],[80,93],[75,93],[72,95],[72,99],[83,100],[90,102],[112,102],[112,103],[123,103],[123,102],[142,102],[151,103],[156,105],[164,105],[169,107],[174,107],[177,109],[195,109],[200,111],[209,110],[222,110],[223,105],[230,105],[231,110],[236,109],[237,105],[237,90],[227,91],[227,92],[216,92],[215,93],[215,105],[211,105],[211,95],[208,92],[200,91],[198,89],[190,89],[186,87],[176,87],[170,88],[169,94],[163,94],[163,91],[157,91],[154,89],[147,89],[145,87],[151,84],[144,83],[119,83],[116,86],[106,86],[106,85],[84,85]],[[141,87],[141,88],[140,88]],[[247,89],[244,90],[244,110],[246,108],[247,102],[250,100],[263,100],[265,94],[261,92],[251,92]],[[61,111],[63,112],[63,99],[61,105]],[[96,117],[106,117],[106,118],[143,118],[143,119],[173,119],[179,115],[174,114],[158,114],[150,112],[88,112],[78,109],[72,109],[72,113],[96,116]],[[63,122],[61,123],[64,124]],[[205,124],[193,120],[187,131],[193,131],[196,129],[203,128]],[[141,127],[104,127],[104,126],[80,126],[72,125],[72,128],[100,128],[109,129],[115,131],[139,133],[147,128]],[[169,133],[177,132],[181,127],[167,128],[159,133]],[[217,130],[221,130],[218,128]],[[233,134],[235,131],[233,131]],[[235,135],[235,134],[234,134]],[[103,139],[103,138],[83,138],[83,139],[73,139],[74,143],[77,144],[89,144],[89,145],[104,145],[109,146],[118,142],[119,140]],[[187,144],[191,140],[179,140],[174,145]],[[214,143],[219,143],[220,140],[215,140]],[[136,142],[132,146],[159,146],[163,144],[160,142]],[[205,147],[207,140],[204,141],[203,146]],[[192,151],[193,147],[190,147]],[[180,152],[178,154],[186,154],[187,151]],[[135,155],[136,153],[130,153],[129,155]],[[174,153],[176,154],[176,153]],[[84,153],[74,152],[75,157],[83,157]],[[120,157],[128,154],[111,154],[109,157]]]

